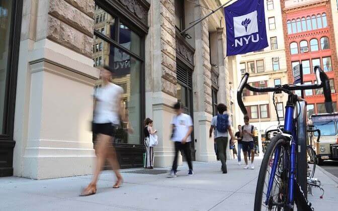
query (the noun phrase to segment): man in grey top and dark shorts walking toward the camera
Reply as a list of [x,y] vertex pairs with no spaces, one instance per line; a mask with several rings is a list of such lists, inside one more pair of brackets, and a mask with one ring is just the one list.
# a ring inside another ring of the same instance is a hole
[[244,161],[245,161],[245,169],[249,168],[247,164],[247,152],[250,150],[251,153],[251,164],[250,168],[255,169],[255,166],[253,166],[253,159],[255,159],[255,151],[253,151],[253,137],[255,134],[253,134],[253,125],[249,124],[249,118],[247,116],[244,117],[244,123],[245,125],[242,126],[240,130],[240,136],[242,137],[242,149],[244,154]]

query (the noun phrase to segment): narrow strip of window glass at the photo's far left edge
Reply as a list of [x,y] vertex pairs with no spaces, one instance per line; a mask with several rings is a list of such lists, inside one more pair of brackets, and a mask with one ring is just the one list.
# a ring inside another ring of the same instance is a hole
[[4,134],[5,97],[13,1],[0,1],[0,134]]

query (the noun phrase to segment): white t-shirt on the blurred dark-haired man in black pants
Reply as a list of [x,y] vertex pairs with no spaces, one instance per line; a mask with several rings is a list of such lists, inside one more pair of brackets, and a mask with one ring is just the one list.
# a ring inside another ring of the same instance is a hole
[[[181,142],[187,135],[189,128],[193,126],[193,120],[189,115],[182,113],[181,115],[173,118],[171,125],[175,126],[174,137],[172,140],[175,142]],[[190,136],[188,137],[187,142],[191,142]]]

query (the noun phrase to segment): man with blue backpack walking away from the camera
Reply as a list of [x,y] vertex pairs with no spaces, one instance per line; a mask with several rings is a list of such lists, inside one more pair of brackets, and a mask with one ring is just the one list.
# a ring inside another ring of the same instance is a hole
[[[215,130],[215,140],[217,144],[218,157],[222,163],[223,174],[227,173],[226,168],[226,147],[228,139],[232,137],[231,120],[227,114],[227,107],[225,104],[220,103],[217,105],[218,115],[214,116],[211,120],[211,127],[209,131],[209,137],[211,138],[213,130]],[[229,132],[229,135],[228,135]]]

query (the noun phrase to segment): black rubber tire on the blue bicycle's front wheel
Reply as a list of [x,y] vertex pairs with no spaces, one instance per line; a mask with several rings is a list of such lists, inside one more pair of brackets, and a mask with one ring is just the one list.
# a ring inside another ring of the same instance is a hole
[[[267,207],[266,205],[263,205],[263,194],[264,194],[264,188],[267,186],[266,183],[266,175],[267,175],[267,169],[268,166],[271,162],[271,156],[273,155],[273,153],[275,152],[275,149],[277,146],[283,146],[283,148],[285,148],[285,152],[287,154],[287,157],[285,159],[285,154],[284,154],[284,159],[285,161],[290,159],[290,145],[289,142],[286,140],[286,138],[283,135],[277,135],[274,136],[271,139],[271,142],[266,150],[266,153],[264,155],[264,158],[262,160],[262,164],[261,164],[261,168],[260,168],[260,173],[259,173],[259,177],[258,177],[258,181],[257,181],[257,187],[256,187],[256,194],[255,194],[255,205],[254,205],[254,210],[255,211],[261,211],[262,210],[262,206]],[[281,151],[282,152],[282,151]],[[280,153],[281,153],[280,152]],[[284,162],[285,162],[284,161]],[[289,162],[289,160],[288,160]],[[284,164],[283,164],[284,165]],[[285,169],[289,169],[288,166],[283,166],[285,167]],[[284,169],[284,168],[282,168]],[[282,179],[282,182],[284,182],[283,184],[287,184],[288,183],[288,172],[285,172],[283,174],[286,178]],[[269,179],[269,177],[268,177]],[[287,187],[287,185],[284,185]],[[283,193],[284,195],[287,196],[287,188],[284,190],[285,193]],[[279,196],[281,194],[279,193]],[[268,205],[269,206],[269,205]],[[277,209],[276,209],[277,208]],[[269,210],[269,209],[267,209]],[[293,209],[290,209],[289,207],[283,207],[283,209],[281,207],[275,207],[274,210],[287,210],[287,211],[292,211]]]

